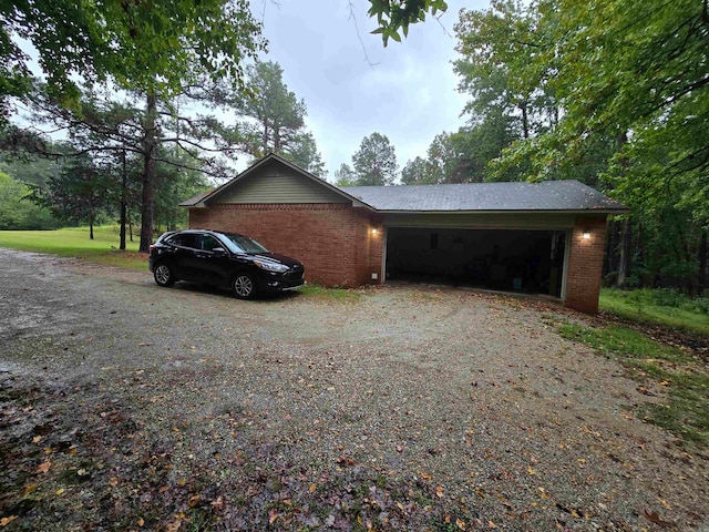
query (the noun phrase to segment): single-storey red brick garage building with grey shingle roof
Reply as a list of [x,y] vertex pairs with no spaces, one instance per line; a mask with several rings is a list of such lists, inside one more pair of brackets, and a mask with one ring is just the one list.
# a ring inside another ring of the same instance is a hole
[[274,154],[184,202],[189,227],[244,233],[309,283],[428,280],[545,294],[598,309],[606,216],[576,181],[337,187]]

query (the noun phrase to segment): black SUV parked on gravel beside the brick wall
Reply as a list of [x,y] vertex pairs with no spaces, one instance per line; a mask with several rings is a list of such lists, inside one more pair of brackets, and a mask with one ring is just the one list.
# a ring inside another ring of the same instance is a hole
[[271,253],[248,236],[219,231],[173,231],[151,246],[148,267],[160,286],[177,280],[230,289],[242,299],[302,285],[298,260]]

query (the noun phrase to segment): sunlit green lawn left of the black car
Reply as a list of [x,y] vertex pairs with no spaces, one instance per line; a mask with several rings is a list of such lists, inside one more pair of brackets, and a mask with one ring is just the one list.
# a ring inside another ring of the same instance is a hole
[[88,227],[55,231],[0,231],[0,247],[24,252],[47,253],[60,257],[78,257],[94,263],[145,270],[147,255],[137,253],[138,241],[127,242],[126,250],[119,249],[117,225],[94,227],[93,241]]

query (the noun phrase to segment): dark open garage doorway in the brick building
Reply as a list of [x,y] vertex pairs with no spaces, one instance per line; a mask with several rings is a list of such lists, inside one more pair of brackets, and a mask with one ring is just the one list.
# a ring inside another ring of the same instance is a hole
[[565,231],[390,227],[387,280],[562,295]]

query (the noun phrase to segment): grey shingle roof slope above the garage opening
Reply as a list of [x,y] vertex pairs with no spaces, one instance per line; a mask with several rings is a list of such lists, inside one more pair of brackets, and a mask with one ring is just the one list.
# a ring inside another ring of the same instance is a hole
[[377,211],[626,211],[578,181],[348,186],[341,191]]

